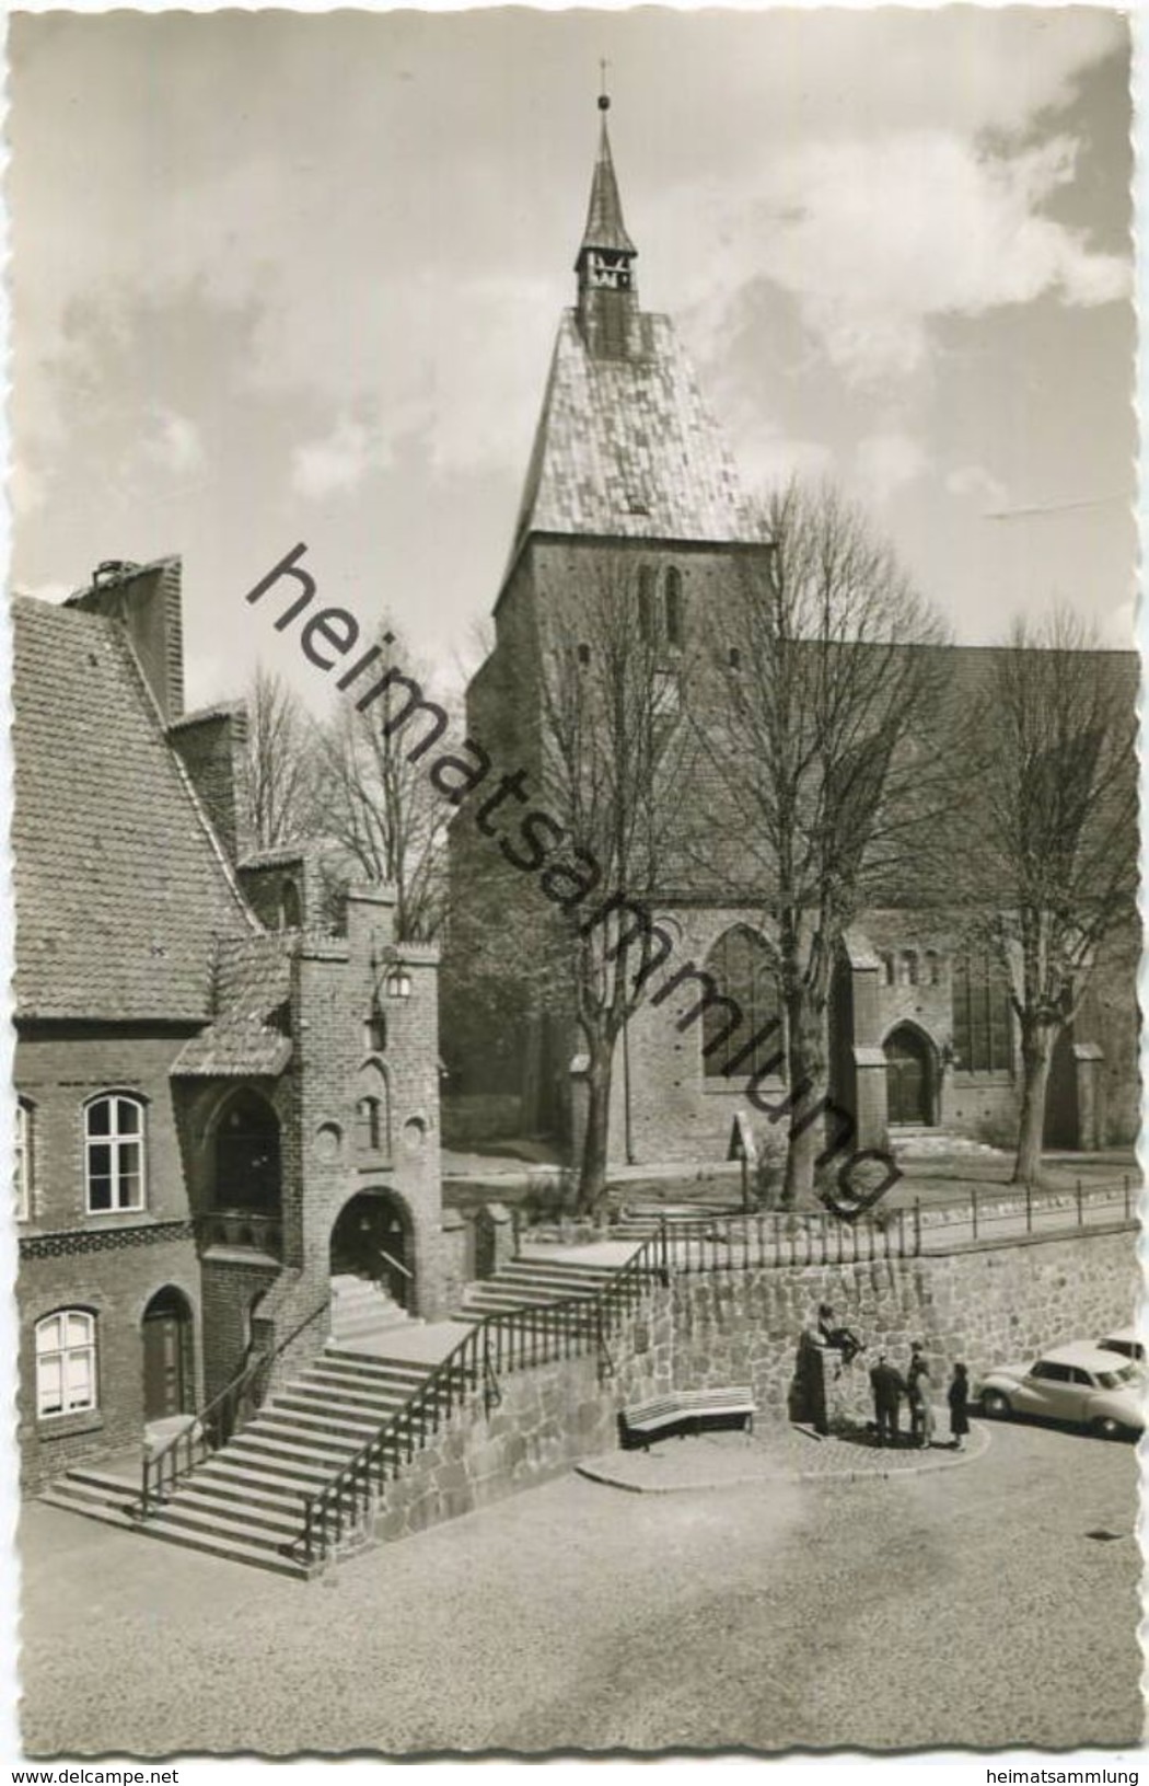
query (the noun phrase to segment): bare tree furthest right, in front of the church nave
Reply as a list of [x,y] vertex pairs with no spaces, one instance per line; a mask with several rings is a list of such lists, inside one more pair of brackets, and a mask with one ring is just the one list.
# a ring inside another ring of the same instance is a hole
[[1022,1106],[1013,1182],[1042,1164],[1046,1089],[1097,956],[1135,922],[1137,714],[1095,632],[1067,613],[1019,622],[994,654],[976,713],[981,739],[978,929],[1010,986],[1021,1032]]

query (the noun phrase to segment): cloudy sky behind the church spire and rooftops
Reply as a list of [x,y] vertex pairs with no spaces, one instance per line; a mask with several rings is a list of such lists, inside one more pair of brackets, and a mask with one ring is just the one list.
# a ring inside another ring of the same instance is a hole
[[14,588],[178,552],[189,702],[257,659],[318,700],[243,605],[305,541],[473,661],[599,57],[641,302],[748,488],[837,479],[958,639],[1131,643],[1128,36],[1085,7],[16,14]]

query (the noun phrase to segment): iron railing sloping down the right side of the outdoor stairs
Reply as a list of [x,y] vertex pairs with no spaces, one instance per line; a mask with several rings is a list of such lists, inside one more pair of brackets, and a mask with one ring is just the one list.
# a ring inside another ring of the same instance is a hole
[[637,1309],[655,1282],[669,1282],[665,1229],[651,1234],[607,1284],[589,1295],[484,1316],[339,1475],[303,1497],[302,1534],[284,1550],[309,1566],[325,1561],[357,1529],[371,1498],[412,1461],[457,1406],[480,1388],[487,1411],[501,1398],[500,1377],[591,1350],[598,1352],[599,1377],[610,1375],[614,1363],[607,1336]]

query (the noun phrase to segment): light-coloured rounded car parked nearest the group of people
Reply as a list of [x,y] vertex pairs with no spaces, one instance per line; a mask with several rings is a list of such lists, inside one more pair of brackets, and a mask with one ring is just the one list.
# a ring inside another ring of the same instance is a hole
[[1033,1415],[1088,1427],[1101,1438],[1144,1431],[1138,1366],[1079,1340],[1044,1352],[1031,1365],[999,1365],[980,1384],[983,1415]]

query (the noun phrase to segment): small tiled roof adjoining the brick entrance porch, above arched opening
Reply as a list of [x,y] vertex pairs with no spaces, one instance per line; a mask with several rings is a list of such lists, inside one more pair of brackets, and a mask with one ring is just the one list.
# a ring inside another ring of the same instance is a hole
[[216,1009],[219,1016],[184,1043],[171,1066],[173,1079],[282,1073],[291,1059],[291,1038],[282,1013],[291,1004],[291,954],[296,939],[284,934],[219,943]]

